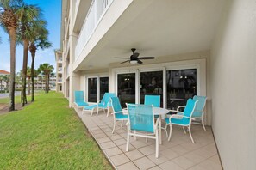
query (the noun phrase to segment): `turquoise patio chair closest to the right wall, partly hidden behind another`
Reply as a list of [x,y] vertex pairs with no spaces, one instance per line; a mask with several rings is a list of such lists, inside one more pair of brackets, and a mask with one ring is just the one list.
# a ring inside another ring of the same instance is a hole
[[203,130],[206,131],[204,127],[204,106],[206,104],[207,97],[195,95],[193,100],[198,100],[195,111],[192,115],[192,118],[201,119],[201,124],[203,125]]

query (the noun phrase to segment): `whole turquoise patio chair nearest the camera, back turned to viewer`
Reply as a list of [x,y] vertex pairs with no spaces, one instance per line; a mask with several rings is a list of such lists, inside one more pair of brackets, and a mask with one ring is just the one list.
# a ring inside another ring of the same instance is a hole
[[156,158],[159,157],[159,118],[154,121],[153,106],[127,104],[128,107],[128,137],[126,151],[129,147],[130,136],[148,137],[156,140]]

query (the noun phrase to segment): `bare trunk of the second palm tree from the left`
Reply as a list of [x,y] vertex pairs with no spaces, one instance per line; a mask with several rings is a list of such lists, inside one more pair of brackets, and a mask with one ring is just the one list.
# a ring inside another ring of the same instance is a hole
[[28,103],[26,96],[26,78],[28,67],[28,40],[23,40],[23,66],[22,66],[22,106]]

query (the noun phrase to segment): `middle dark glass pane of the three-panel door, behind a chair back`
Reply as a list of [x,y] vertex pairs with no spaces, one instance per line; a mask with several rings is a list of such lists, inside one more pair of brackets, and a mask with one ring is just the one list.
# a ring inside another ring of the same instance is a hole
[[163,71],[140,73],[140,104],[144,103],[146,94],[160,95],[163,106]]

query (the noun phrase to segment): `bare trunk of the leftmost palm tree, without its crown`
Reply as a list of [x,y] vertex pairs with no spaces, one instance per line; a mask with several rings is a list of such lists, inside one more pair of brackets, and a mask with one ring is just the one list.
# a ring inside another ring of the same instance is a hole
[[8,30],[10,39],[9,111],[14,111],[16,86],[16,28],[9,27]]

